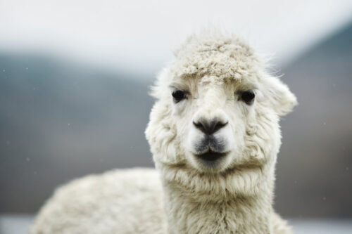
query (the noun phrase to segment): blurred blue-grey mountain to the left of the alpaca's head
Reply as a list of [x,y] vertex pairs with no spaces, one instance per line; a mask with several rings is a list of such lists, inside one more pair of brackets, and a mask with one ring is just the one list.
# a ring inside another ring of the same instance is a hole
[[33,55],[0,56],[0,212],[35,212],[54,188],[152,167],[149,82]]

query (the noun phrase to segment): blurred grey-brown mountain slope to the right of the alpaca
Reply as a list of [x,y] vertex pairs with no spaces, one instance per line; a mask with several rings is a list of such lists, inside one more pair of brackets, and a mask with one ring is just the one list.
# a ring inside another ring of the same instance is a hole
[[282,70],[296,110],[282,120],[276,206],[287,216],[352,216],[352,25]]

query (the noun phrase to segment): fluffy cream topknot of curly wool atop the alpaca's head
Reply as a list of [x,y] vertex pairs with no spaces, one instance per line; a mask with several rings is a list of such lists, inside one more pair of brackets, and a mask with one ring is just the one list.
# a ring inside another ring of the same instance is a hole
[[177,77],[242,79],[258,65],[253,49],[234,34],[193,34],[175,51],[171,70]]

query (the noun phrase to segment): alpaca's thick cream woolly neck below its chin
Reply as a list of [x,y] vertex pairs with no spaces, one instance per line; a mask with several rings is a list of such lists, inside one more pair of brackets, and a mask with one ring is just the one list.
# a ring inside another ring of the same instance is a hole
[[260,189],[260,195],[227,194],[214,199],[212,191],[196,193],[165,179],[163,185],[168,234],[272,233],[271,189]]

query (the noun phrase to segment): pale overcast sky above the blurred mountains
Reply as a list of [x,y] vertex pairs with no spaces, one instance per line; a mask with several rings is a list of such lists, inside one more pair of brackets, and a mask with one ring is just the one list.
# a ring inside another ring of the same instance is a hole
[[236,32],[279,65],[352,20],[351,0],[1,0],[0,51],[155,73],[191,32]]

